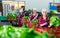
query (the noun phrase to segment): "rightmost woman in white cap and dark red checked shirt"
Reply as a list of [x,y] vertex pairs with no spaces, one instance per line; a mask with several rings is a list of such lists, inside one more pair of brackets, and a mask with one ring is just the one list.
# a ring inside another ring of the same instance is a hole
[[46,9],[42,9],[42,16],[38,18],[38,28],[42,30],[48,30],[49,27],[49,18],[47,17]]

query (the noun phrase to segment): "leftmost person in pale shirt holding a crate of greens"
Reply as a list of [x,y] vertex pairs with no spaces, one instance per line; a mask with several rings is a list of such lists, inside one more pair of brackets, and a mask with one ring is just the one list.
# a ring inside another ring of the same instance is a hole
[[[14,15],[16,15],[16,10],[14,9],[14,5],[12,5],[11,6],[11,9],[8,11],[8,16],[7,16],[7,18],[9,18],[10,20],[10,23],[12,24],[12,25],[16,25],[17,23],[15,22],[16,21],[16,17],[13,17]],[[9,14],[10,14],[10,16],[9,16]],[[15,19],[15,20],[14,20]]]

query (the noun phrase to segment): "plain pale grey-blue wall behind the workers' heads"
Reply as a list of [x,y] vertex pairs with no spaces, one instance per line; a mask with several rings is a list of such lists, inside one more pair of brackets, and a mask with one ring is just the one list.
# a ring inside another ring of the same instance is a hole
[[[53,0],[14,0],[14,1],[25,1],[26,10],[37,8],[40,11],[42,8],[49,9],[49,3]],[[60,0],[54,0],[55,2],[60,2]]]

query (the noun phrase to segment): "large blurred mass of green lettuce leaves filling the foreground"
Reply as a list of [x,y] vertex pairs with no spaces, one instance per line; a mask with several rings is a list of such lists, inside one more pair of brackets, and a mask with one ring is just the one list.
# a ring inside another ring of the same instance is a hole
[[39,33],[25,27],[0,26],[0,38],[54,38],[47,32]]

